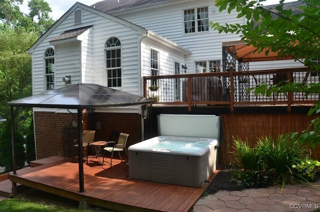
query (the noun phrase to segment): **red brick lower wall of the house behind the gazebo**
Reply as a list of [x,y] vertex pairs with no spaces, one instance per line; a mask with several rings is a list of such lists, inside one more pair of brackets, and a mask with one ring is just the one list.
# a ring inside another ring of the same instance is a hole
[[[72,127],[77,114],[34,112],[35,142],[37,159],[63,155],[62,129]],[[95,132],[95,140],[110,140],[111,133],[128,133],[127,145],[141,141],[141,116],[138,113],[93,113],[82,115],[83,129],[95,129],[99,121],[101,128]]]

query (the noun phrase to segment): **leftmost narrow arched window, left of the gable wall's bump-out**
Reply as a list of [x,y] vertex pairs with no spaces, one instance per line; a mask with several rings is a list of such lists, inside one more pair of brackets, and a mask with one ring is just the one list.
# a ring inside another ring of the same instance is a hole
[[53,90],[54,89],[54,49],[47,48],[44,52],[44,81],[45,89]]

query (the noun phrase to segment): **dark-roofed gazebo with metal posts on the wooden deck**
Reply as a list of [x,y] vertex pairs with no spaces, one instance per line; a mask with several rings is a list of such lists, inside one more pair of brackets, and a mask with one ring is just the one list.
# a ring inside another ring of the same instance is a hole
[[90,109],[96,107],[132,106],[151,104],[152,102],[153,99],[144,98],[142,96],[91,83],[70,84],[61,88],[7,102],[11,106],[13,173],[16,173],[13,107],[19,106],[77,109],[79,191],[83,192],[84,180],[82,163],[82,109]]

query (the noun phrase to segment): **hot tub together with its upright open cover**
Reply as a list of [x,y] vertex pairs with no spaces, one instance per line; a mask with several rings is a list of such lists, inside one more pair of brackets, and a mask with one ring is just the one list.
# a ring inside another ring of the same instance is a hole
[[128,148],[130,178],[201,187],[217,165],[219,126],[214,115],[158,115],[161,135]]

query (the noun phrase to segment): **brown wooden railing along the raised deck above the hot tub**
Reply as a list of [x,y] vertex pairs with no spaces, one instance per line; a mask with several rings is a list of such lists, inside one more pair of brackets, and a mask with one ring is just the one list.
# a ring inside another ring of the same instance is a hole
[[[293,82],[317,83],[317,72],[307,68],[285,68],[257,71],[234,71],[192,73],[143,77],[143,96],[153,98],[155,104],[229,105],[230,111],[240,105],[291,105],[311,104],[319,98],[318,93],[305,96],[303,92],[272,93],[270,96],[257,94],[249,88],[262,84]],[[191,83],[188,83],[190,82]]]

